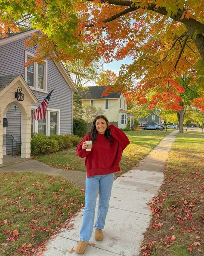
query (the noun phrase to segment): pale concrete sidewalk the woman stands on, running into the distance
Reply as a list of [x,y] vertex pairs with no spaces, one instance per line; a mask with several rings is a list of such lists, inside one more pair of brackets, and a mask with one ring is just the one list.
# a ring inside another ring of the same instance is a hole
[[[146,205],[155,195],[164,179],[163,169],[172,144],[173,131],[156,146],[134,170],[125,173],[113,183],[111,200],[104,229],[104,240],[97,242],[93,236],[87,246],[87,256],[137,256],[143,234],[149,225],[151,211]],[[82,224],[83,211],[72,219],[72,229],[63,229],[56,238],[49,240],[44,256],[69,255],[76,248]],[[96,214],[97,215],[97,214]],[[96,216],[95,216],[96,217]],[[96,219],[96,218],[95,218]],[[77,255],[75,251],[72,256]]]

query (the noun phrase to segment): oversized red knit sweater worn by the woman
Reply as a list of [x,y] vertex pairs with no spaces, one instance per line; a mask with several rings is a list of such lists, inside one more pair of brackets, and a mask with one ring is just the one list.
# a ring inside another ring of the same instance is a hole
[[86,157],[85,166],[87,168],[87,178],[94,175],[105,175],[120,171],[120,160],[125,147],[130,143],[123,131],[110,125],[111,140],[113,145],[110,145],[105,136],[97,134],[96,141],[92,145],[91,151],[82,149],[84,141],[89,141],[90,136],[86,134],[83,140],[77,146],[77,156]]

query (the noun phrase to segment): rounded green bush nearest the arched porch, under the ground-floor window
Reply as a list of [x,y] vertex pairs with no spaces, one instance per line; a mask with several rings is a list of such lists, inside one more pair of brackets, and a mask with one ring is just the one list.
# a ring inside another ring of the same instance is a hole
[[34,134],[31,138],[31,154],[49,154],[59,150],[58,142],[44,134]]

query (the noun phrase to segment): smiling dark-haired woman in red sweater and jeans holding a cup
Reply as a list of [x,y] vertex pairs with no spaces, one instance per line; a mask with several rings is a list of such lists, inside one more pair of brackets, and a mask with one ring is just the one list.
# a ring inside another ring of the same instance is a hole
[[[91,151],[87,151],[86,141],[92,141]],[[86,157],[87,168],[85,208],[80,230],[80,242],[76,253],[85,253],[93,232],[96,197],[99,192],[98,215],[95,223],[95,239],[103,240],[103,228],[108,212],[108,202],[114,181],[114,173],[120,171],[119,162],[122,152],[130,143],[123,131],[108,125],[104,115],[97,116],[88,132],[77,146],[77,156]]]

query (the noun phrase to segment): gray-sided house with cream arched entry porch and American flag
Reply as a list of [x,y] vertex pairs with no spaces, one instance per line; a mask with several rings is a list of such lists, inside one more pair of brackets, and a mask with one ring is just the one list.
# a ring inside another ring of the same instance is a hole
[[[25,40],[34,32],[39,33],[33,29],[0,38],[0,166],[2,154],[10,153],[9,146],[2,150],[3,134],[13,135],[21,151],[26,148],[22,158],[28,158],[31,131],[46,135],[72,133],[72,96],[77,89],[65,67],[51,60],[45,60],[44,65],[24,66],[37,48],[24,48]],[[15,98],[18,87],[22,87],[23,101]],[[46,119],[34,121],[34,110],[54,88]],[[7,127],[2,125],[3,118],[7,118]]]

